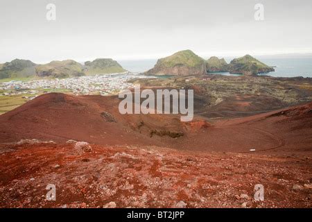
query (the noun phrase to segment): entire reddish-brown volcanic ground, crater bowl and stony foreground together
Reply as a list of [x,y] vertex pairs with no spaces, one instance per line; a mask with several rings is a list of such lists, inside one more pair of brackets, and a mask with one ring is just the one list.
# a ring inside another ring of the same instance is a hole
[[312,103],[215,123],[118,105],[44,94],[1,115],[0,207],[311,207]]

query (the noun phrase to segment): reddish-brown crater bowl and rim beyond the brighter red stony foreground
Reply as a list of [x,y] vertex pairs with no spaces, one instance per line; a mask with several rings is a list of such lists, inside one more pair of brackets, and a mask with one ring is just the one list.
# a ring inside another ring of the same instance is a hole
[[44,94],[0,116],[0,142],[69,139],[101,145],[249,152],[311,149],[312,103],[211,124],[173,114],[120,114],[117,96]]

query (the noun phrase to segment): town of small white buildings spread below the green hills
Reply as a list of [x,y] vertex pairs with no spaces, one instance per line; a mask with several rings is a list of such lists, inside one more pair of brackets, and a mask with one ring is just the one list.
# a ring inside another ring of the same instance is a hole
[[136,73],[125,72],[121,74],[103,74],[96,76],[80,76],[62,79],[39,79],[39,80],[11,80],[0,83],[2,96],[18,94],[37,94],[40,91],[53,92],[67,89],[75,95],[101,94],[102,96],[114,94],[122,89],[133,87],[128,83],[133,78],[155,78]]

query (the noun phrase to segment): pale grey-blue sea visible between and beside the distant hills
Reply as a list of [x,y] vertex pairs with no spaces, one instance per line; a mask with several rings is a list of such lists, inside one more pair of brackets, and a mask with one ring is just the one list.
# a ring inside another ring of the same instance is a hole
[[[275,68],[275,71],[260,74],[274,77],[310,77],[312,78],[312,55],[311,56],[254,56],[266,65]],[[206,58],[205,58],[206,59]],[[225,57],[227,62],[233,58]],[[119,64],[128,71],[143,73],[154,67],[157,59],[149,60],[118,60]],[[225,76],[239,76],[238,74],[229,74],[229,72],[214,72]],[[209,75],[209,74],[208,74]]]

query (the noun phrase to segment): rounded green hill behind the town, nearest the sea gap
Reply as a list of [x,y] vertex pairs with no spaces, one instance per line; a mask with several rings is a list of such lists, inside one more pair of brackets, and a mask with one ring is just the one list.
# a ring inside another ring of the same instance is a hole
[[87,75],[94,75],[120,73],[126,70],[123,69],[118,62],[112,60],[111,58],[97,58],[92,62],[85,62],[84,71]]

